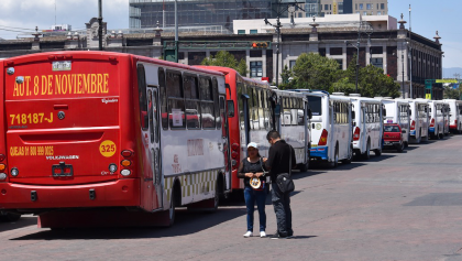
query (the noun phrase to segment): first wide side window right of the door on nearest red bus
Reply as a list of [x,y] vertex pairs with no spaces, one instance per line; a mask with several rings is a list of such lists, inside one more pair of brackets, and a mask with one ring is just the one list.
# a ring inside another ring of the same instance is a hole
[[180,72],[167,70],[168,121],[170,129],[185,129],[185,100]]

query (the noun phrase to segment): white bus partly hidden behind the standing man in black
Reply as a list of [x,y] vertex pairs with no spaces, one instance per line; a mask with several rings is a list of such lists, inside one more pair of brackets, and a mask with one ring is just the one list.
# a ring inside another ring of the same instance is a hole
[[297,167],[306,172],[309,167],[309,109],[305,95],[295,91],[274,90],[280,106],[277,131],[280,138],[294,148]]

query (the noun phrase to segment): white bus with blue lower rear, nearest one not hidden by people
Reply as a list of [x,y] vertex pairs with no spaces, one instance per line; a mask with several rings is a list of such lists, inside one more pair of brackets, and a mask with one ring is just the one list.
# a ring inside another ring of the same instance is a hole
[[327,162],[331,167],[351,163],[353,159],[352,111],[349,97],[327,91],[302,91],[311,110],[310,157]]

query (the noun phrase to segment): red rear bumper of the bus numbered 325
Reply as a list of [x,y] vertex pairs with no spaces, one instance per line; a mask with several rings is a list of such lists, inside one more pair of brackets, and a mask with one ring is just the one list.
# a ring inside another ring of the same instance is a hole
[[140,206],[140,180],[70,185],[37,186],[0,183],[0,209]]

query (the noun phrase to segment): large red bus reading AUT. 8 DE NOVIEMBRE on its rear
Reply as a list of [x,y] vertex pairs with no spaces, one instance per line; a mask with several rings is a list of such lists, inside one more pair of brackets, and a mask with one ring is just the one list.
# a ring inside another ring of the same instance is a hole
[[0,65],[0,210],[40,227],[168,226],[230,191],[222,73],[109,52]]

